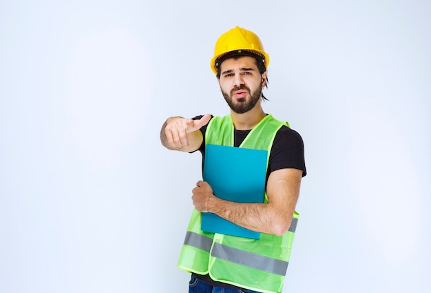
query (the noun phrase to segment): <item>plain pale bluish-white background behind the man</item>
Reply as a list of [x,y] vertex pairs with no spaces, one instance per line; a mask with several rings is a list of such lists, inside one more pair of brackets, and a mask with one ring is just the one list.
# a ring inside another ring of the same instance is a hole
[[429,292],[429,1],[0,3],[0,292],[187,292],[200,154],[169,116],[227,114],[234,26],[271,57],[264,110],[308,175],[284,292]]

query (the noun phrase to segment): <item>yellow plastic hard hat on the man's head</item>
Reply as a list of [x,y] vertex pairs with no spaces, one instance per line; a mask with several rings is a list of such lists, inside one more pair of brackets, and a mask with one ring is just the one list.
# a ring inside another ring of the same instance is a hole
[[225,32],[218,38],[215,43],[214,57],[211,59],[211,70],[215,74],[217,74],[220,66],[220,57],[229,52],[232,52],[232,54],[252,55],[257,59],[262,58],[262,63],[264,63],[265,67],[268,67],[269,56],[264,51],[264,46],[257,34],[250,30],[235,26],[235,28]]

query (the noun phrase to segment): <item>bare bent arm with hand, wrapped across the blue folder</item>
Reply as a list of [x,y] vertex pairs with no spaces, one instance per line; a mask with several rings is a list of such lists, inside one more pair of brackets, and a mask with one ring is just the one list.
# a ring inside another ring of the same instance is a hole
[[208,183],[198,181],[193,189],[193,205],[199,212],[212,212],[249,230],[282,235],[291,226],[301,179],[302,170],[271,172],[266,184],[268,203],[225,201],[213,194]]

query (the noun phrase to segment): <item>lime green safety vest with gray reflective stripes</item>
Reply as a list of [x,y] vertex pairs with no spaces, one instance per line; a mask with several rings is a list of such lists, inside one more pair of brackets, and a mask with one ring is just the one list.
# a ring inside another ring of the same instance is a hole
[[[266,150],[269,154],[277,130],[288,123],[266,115],[241,143],[240,148]],[[233,146],[230,115],[213,117],[205,143]],[[266,192],[264,203],[268,203]],[[260,233],[260,239],[229,236],[200,230],[202,213],[193,209],[178,267],[187,272],[209,274],[214,281],[267,293],[282,292],[299,214],[282,236]]]

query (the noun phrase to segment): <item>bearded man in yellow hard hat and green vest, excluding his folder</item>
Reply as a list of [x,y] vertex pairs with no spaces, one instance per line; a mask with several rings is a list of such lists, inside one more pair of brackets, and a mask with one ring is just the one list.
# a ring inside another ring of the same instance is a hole
[[[302,138],[262,109],[268,64],[269,56],[253,32],[237,26],[222,34],[211,69],[230,114],[170,117],[160,131],[162,145],[169,150],[204,154],[211,143],[269,153],[264,203],[220,199],[204,181],[193,188],[195,209],[178,262],[178,267],[192,273],[189,292],[282,292],[306,168]],[[260,239],[202,231],[205,212],[260,232]]]

